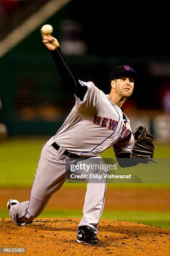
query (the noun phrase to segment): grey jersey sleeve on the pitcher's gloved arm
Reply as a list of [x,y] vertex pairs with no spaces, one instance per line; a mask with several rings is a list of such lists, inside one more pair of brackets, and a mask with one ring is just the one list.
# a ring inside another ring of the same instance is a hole
[[132,148],[134,145],[134,137],[130,132],[130,136],[126,140],[119,140],[117,143],[113,145],[113,150],[115,152],[115,156],[118,157],[122,153],[132,153]]

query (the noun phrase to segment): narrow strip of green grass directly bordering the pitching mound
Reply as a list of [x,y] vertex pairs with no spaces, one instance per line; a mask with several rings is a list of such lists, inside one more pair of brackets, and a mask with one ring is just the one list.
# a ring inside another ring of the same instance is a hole
[[[8,210],[0,210],[0,218],[10,218]],[[82,218],[81,210],[44,210],[38,218]],[[101,219],[125,220],[170,229],[170,212],[103,210]]]

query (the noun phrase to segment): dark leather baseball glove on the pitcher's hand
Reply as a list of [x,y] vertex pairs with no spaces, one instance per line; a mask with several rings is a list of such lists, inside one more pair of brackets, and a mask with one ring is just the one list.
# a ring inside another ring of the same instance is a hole
[[[130,158],[140,158],[141,162],[145,164],[153,161],[153,151],[155,148],[153,135],[146,130],[146,127],[139,126],[133,133],[133,136],[135,138],[135,144],[132,148]],[[156,163],[155,161],[153,162]]]

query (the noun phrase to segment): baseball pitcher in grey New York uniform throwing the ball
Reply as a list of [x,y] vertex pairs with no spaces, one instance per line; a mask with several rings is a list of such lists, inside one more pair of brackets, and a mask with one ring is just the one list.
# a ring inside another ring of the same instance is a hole
[[[76,162],[81,158],[100,158],[100,154],[110,146],[113,146],[122,167],[144,162],[141,159],[145,159],[146,163],[153,158],[152,138],[147,146],[145,137],[148,138],[148,133],[144,134],[140,128],[134,141],[130,120],[122,109],[126,98],[133,92],[138,74],[127,65],[116,67],[112,73],[110,94],[105,95],[93,82],[83,82],[73,74],[56,38],[42,34],[42,42],[51,51],[62,79],[72,87],[75,106],[61,128],[42,148],[30,199],[25,202],[14,199],[7,202],[16,225],[30,223],[40,215],[52,194],[64,184],[66,162],[69,159],[75,159]],[[127,160],[127,164],[122,163],[121,158],[130,159],[131,155],[137,161]],[[102,183],[87,184],[83,217],[77,228],[78,243],[99,243],[97,225],[104,206],[106,182],[105,179]]]

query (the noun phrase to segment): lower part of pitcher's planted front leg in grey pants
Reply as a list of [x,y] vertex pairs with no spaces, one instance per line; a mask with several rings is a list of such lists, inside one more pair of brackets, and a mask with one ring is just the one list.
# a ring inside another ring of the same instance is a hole
[[97,225],[102,214],[105,202],[106,182],[104,183],[88,183],[85,195],[85,203],[83,207],[83,217],[80,220],[80,226],[89,226],[98,233]]

